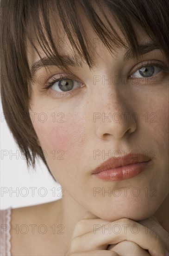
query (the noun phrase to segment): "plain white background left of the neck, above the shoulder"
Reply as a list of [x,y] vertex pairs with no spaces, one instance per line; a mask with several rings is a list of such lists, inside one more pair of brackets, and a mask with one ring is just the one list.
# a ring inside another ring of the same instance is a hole
[[53,180],[42,160],[36,163],[35,170],[30,168],[28,171],[24,156],[20,156],[19,152],[3,118],[0,101],[0,209],[61,199],[61,185]]

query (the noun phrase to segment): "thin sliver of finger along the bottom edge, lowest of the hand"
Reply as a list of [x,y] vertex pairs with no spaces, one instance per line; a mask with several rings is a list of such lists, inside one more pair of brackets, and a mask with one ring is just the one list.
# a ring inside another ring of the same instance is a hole
[[94,251],[75,252],[70,256],[119,256],[119,254],[117,254],[114,251],[94,250]]

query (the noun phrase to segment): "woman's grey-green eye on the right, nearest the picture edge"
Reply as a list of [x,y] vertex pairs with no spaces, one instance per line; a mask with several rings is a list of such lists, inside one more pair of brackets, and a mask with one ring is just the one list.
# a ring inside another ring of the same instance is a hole
[[147,62],[132,73],[131,78],[149,78],[166,69],[162,63]]

